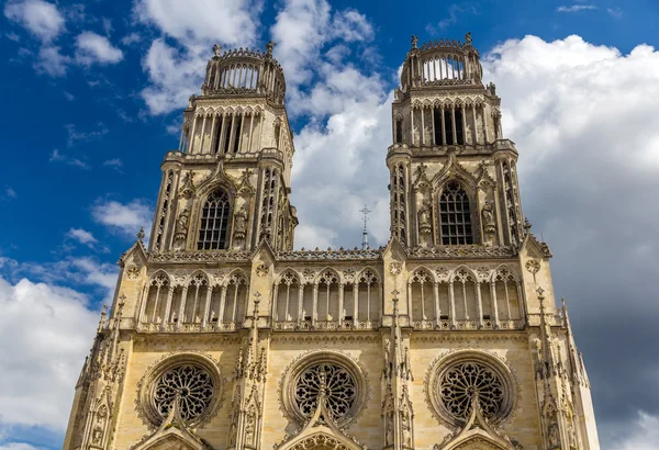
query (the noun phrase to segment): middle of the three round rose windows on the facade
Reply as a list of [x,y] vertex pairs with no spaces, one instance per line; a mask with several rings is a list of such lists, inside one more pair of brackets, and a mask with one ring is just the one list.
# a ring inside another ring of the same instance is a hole
[[317,408],[317,398],[324,390],[327,412],[336,423],[353,408],[357,386],[353,374],[337,364],[319,363],[304,369],[295,382],[294,402],[304,417]]

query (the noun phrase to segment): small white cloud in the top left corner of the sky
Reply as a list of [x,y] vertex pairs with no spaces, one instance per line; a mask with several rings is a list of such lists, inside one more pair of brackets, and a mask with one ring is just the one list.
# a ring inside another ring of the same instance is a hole
[[65,20],[57,7],[42,0],[9,1],[4,15],[20,23],[42,42],[47,43],[65,30]]

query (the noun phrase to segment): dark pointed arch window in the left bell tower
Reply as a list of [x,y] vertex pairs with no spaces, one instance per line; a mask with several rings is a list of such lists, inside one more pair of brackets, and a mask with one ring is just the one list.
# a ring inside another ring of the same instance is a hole
[[209,195],[201,210],[201,224],[197,243],[199,250],[226,248],[231,203],[225,190],[217,189]]

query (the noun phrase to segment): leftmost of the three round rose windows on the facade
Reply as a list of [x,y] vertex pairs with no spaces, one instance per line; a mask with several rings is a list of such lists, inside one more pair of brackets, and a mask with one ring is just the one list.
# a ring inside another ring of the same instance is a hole
[[192,420],[199,417],[213,400],[213,378],[199,365],[176,365],[158,378],[153,392],[155,407],[160,416],[169,415],[178,394],[181,418]]

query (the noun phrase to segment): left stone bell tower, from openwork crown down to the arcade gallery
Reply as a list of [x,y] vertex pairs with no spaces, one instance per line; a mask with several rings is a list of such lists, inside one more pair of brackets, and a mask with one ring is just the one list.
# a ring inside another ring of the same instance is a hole
[[292,249],[292,133],[283,71],[266,53],[214,56],[190,97],[178,151],[163,161],[149,250]]

